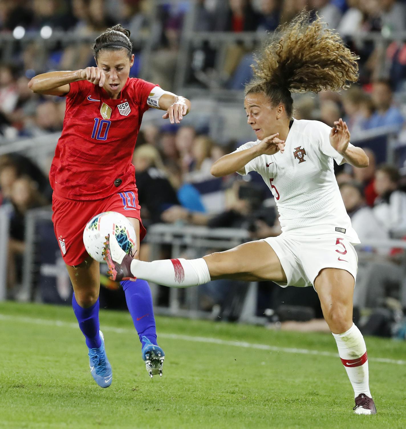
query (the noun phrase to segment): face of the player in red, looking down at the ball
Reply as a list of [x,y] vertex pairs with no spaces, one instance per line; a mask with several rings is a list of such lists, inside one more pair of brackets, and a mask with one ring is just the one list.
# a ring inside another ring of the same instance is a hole
[[134,64],[134,54],[129,58],[127,49],[105,51],[99,54],[96,62],[99,69],[102,69],[106,75],[103,88],[114,98],[120,94],[128,79],[130,68]]

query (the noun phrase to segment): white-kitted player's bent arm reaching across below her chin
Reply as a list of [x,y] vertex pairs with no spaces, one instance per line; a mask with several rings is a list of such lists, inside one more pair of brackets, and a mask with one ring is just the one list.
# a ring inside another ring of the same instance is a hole
[[245,174],[245,165],[260,155],[274,155],[278,151],[285,150],[285,142],[278,139],[279,133],[266,137],[258,145],[244,149],[231,154],[223,155],[218,159],[210,169],[210,172],[215,177],[226,176],[231,173],[239,172]]

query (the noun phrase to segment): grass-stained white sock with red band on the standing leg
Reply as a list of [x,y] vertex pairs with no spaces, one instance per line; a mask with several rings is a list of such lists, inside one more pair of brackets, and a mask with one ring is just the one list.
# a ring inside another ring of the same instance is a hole
[[367,346],[361,331],[353,323],[343,334],[333,334],[336,339],[338,354],[345,366],[349,381],[354,389],[355,398],[360,393],[371,396],[369,389],[369,373]]

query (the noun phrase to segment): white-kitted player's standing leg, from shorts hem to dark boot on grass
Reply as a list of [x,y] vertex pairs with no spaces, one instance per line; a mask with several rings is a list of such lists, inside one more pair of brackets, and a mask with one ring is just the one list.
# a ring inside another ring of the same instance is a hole
[[315,280],[323,315],[337,343],[338,354],[354,389],[355,414],[376,414],[369,388],[367,347],[352,322],[354,277],[343,269],[325,268]]

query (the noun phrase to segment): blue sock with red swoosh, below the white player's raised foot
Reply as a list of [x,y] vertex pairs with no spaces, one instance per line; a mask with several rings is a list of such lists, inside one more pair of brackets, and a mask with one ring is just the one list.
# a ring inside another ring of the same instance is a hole
[[[138,336],[145,335],[153,344],[156,344],[155,317],[153,315],[152,296],[148,282],[137,278],[135,281],[120,281],[126,294],[128,310],[134,322]],[[142,347],[144,342],[141,341]]]

